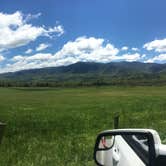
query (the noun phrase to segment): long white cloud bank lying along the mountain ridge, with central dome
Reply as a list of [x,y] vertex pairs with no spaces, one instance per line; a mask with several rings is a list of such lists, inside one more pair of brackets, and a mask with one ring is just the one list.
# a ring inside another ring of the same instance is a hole
[[122,54],[111,43],[106,43],[103,38],[79,37],[74,41],[69,41],[54,54],[37,53],[31,56],[14,56],[5,68],[0,72],[13,72],[25,69],[65,66],[79,61],[82,62],[102,62],[112,61],[138,61],[141,59],[139,53]]

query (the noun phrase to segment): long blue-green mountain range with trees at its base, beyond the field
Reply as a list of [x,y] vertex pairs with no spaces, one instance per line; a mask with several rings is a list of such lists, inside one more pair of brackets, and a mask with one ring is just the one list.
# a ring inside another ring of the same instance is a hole
[[0,74],[0,85],[153,85],[166,83],[166,64],[141,62],[78,62],[68,66]]

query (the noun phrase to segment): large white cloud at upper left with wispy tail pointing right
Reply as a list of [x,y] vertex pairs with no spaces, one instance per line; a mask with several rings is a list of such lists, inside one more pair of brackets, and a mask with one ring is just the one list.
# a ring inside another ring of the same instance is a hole
[[52,35],[60,36],[63,33],[61,25],[46,28],[29,24],[19,11],[13,14],[0,13],[0,49],[2,50],[27,45],[40,36],[51,38]]

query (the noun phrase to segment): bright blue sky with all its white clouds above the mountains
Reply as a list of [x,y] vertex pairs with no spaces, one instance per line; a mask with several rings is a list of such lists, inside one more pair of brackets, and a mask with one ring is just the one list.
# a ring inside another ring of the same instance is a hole
[[0,73],[78,61],[166,62],[165,0],[1,0]]

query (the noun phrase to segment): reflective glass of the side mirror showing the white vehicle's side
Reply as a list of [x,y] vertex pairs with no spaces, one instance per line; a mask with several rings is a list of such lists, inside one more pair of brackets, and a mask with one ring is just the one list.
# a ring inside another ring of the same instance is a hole
[[106,166],[148,166],[149,140],[145,134],[102,135],[97,143],[96,161]]

